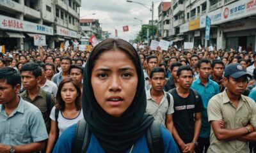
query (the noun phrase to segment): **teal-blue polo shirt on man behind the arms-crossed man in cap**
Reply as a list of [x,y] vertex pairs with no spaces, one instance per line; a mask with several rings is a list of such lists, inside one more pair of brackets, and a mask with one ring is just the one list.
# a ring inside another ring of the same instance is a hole
[[211,125],[208,122],[207,106],[212,96],[215,96],[220,92],[219,85],[211,79],[208,79],[207,85],[205,86],[198,77],[192,83],[191,88],[195,89],[200,94],[204,105],[204,110],[202,112],[202,126],[199,136],[202,138],[209,138]]

